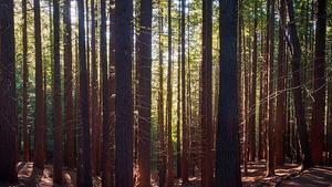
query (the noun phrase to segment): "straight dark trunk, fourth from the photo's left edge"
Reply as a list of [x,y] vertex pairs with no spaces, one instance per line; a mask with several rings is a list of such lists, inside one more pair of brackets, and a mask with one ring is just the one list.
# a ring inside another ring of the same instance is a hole
[[61,106],[61,80],[60,80],[60,15],[59,0],[53,0],[54,25],[54,77],[53,77],[53,134],[54,134],[54,184],[62,184],[62,106]]

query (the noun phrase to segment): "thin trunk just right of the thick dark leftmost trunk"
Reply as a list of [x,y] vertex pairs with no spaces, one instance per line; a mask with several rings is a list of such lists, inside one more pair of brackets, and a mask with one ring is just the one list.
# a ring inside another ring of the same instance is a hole
[[22,0],[22,13],[23,13],[23,160],[30,160],[30,142],[28,132],[28,105],[29,105],[29,69],[28,69],[28,18],[27,18],[27,0]]

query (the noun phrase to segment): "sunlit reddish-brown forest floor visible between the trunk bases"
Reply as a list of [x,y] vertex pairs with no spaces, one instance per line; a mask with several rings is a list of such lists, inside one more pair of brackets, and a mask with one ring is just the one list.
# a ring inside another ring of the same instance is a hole
[[[45,165],[45,169],[33,170],[32,163],[19,163],[19,185],[15,187],[53,187],[52,165]],[[300,166],[287,164],[276,168],[273,177],[266,177],[266,163],[249,163],[248,173],[242,177],[243,187],[332,187],[332,167],[313,167],[304,172],[300,172]],[[75,170],[63,170],[65,187],[74,187]],[[190,177],[190,185],[185,187],[199,187],[200,177]],[[157,174],[152,176],[153,187],[157,187]],[[180,180],[175,181],[175,187],[180,187]],[[94,177],[94,187],[101,187],[101,178]],[[8,187],[1,185],[0,187]]]

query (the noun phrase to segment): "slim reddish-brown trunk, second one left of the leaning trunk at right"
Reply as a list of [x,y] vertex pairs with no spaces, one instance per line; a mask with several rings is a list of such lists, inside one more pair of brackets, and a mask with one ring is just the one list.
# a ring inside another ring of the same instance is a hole
[[[273,91],[273,63],[274,63],[274,0],[270,0],[269,45],[268,51],[268,127],[267,127],[267,176],[274,175],[274,91]],[[269,11],[269,10],[268,10]]]

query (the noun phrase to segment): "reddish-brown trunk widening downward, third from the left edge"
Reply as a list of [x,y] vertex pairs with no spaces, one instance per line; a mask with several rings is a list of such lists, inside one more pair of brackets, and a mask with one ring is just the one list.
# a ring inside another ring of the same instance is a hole
[[35,54],[35,135],[33,166],[44,168],[44,92],[43,92],[43,66],[40,24],[40,0],[33,1],[34,7],[34,54]]

